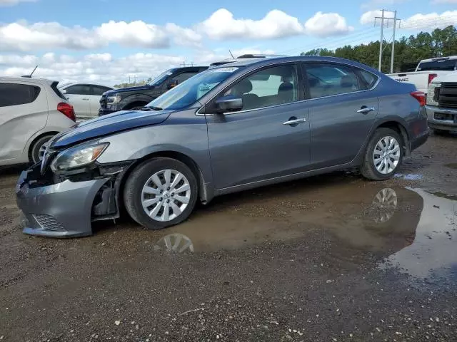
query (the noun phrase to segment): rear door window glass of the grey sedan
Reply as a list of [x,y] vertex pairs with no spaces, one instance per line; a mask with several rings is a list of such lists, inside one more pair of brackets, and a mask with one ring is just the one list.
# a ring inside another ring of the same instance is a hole
[[306,64],[305,68],[311,98],[363,90],[356,73],[350,67],[331,63],[310,63]]

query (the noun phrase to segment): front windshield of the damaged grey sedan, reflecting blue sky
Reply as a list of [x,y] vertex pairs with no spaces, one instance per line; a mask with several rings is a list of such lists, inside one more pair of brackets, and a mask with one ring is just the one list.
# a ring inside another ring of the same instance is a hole
[[168,110],[186,108],[188,105],[200,100],[212,88],[229,78],[238,68],[214,68],[199,73],[189,80],[184,81],[175,88],[159,96],[146,105],[150,108],[161,108]]

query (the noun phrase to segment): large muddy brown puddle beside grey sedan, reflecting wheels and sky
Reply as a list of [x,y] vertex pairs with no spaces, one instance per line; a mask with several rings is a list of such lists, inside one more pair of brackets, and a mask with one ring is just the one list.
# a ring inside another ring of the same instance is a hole
[[193,253],[268,242],[306,244],[308,234],[317,231],[332,242],[322,247],[326,258],[343,258],[343,246],[346,252],[375,254],[381,269],[393,267],[416,278],[456,276],[457,202],[452,197],[409,188],[355,190],[351,184],[260,197],[205,208],[167,229],[171,234],[155,249]]

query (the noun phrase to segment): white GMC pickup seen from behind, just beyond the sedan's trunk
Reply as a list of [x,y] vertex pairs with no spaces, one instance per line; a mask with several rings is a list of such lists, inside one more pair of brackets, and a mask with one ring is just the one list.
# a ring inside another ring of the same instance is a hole
[[398,82],[413,83],[417,90],[427,93],[433,78],[446,76],[457,70],[457,56],[423,59],[412,73],[388,73],[387,76]]

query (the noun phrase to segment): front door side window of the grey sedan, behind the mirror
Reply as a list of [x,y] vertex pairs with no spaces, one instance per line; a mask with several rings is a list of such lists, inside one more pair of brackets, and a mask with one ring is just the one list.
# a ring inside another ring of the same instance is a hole
[[298,73],[288,64],[253,73],[227,90],[224,95],[243,98],[243,110],[282,105],[298,100]]

